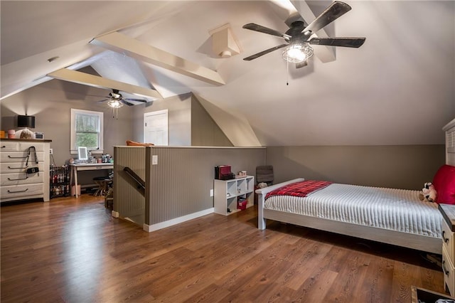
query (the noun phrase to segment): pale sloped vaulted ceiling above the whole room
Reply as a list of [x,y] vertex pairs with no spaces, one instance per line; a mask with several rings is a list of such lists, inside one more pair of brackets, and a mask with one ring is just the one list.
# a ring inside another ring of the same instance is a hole
[[[288,70],[279,50],[242,60],[283,42],[242,28],[286,31],[277,2],[1,1],[1,97],[50,80],[55,70],[91,65],[163,97],[194,92],[241,112],[264,146],[444,144],[441,127],[455,117],[454,1],[346,1],[352,11],[326,33],[366,37],[365,44],[336,48],[331,62],[314,56],[298,70]],[[330,1],[304,4],[317,16]],[[225,23],[241,50],[231,58],[213,53],[209,34]],[[90,43],[114,31],[215,70],[225,85]]]

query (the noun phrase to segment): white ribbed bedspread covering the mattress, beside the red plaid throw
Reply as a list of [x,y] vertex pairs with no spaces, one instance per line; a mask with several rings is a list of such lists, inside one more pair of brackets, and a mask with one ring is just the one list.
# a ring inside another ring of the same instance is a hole
[[264,208],[440,238],[442,217],[437,203],[419,201],[418,193],[331,184],[305,198],[269,197]]

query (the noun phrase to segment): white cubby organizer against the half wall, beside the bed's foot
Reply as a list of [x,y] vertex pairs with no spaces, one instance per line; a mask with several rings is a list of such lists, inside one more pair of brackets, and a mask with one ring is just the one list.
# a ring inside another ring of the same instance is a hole
[[237,208],[239,198],[247,201],[247,208],[254,204],[254,176],[243,176],[242,178],[231,180],[215,180],[213,188],[215,213],[228,216],[240,211]]

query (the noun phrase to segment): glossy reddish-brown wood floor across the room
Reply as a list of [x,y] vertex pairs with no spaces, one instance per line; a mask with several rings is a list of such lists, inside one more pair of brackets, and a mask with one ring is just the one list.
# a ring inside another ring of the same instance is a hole
[[273,223],[257,210],[146,233],[99,197],[2,206],[1,302],[411,302],[444,292],[414,250]]

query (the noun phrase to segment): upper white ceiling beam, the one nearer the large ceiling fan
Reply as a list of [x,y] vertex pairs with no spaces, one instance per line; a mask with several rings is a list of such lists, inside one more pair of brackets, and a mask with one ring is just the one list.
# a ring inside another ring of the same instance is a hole
[[117,53],[124,53],[129,57],[157,65],[167,70],[186,75],[213,85],[225,85],[223,78],[215,72],[201,65],[168,53],[154,46],[138,41],[119,32],[107,33],[94,38],[90,43],[102,46]]

